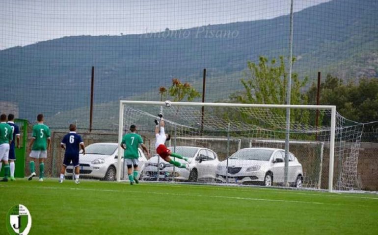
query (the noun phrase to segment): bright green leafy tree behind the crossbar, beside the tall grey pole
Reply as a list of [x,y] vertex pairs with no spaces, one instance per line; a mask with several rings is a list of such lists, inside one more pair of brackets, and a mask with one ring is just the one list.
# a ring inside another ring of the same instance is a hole
[[[295,58],[293,58],[294,62]],[[278,63],[274,58],[269,61],[268,58],[260,56],[258,64],[251,61],[247,62],[247,71],[244,78],[241,79],[244,90],[232,94],[230,98],[239,103],[285,104],[288,76],[283,56],[279,57]],[[307,95],[301,93],[301,89],[304,88],[307,80],[308,78],[305,77],[300,81],[298,74],[292,73],[291,104],[307,104]],[[286,114],[284,109],[272,109],[272,112],[283,117]],[[248,117],[243,119],[248,121]],[[308,123],[309,112],[307,110],[292,110],[291,121]]]

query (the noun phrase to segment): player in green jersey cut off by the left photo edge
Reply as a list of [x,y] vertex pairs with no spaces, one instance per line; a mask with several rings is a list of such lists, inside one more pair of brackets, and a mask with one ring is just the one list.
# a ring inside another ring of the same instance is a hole
[[[6,123],[6,115],[0,115],[0,162],[4,164],[4,178],[2,182],[8,181],[10,172],[8,156],[9,156],[9,144],[13,139],[13,131],[9,124]],[[1,166],[0,166],[1,167]],[[1,168],[0,168],[1,169]]]

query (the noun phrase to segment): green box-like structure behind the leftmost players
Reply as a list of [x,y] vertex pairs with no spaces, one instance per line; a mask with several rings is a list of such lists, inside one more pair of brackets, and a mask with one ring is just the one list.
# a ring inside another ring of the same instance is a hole
[[[16,161],[15,161],[15,178],[25,177],[25,159],[27,149],[27,125],[29,122],[25,119],[15,119],[14,123],[20,127],[20,148],[16,147]],[[16,143],[17,146],[17,143]],[[4,164],[3,164],[4,166]],[[0,176],[4,176],[4,167],[1,167]]]

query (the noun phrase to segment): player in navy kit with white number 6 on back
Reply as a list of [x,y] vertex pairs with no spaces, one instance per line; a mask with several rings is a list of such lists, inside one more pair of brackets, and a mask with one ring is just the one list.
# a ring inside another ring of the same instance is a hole
[[60,146],[65,149],[66,152],[64,154],[62,169],[60,170],[59,183],[63,183],[64,172],[66,171],[67,166],[72,162],[72,165],[75,168],[75,183],[79,184],[79,151],[81,147],[83,151],[82,154],[85,154],[85,145],[81,136],[76,133],[76,126],[74,124],[70,125],[70,133],[63,137]]

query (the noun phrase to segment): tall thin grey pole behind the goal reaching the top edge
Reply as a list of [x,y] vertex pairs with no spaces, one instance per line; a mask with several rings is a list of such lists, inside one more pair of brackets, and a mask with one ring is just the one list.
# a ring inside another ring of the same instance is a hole
[[[290,4],[290,36],[289,36],[289,79],[286,88],[286,104],[290,104],[290,95],[292,92],[292,71],[293,71],[293,13],[294,0]],[[285,137],[285,187],[289,187],[288,173],[289,173],[289,140],[290,140],[290,108],[286,109],[286,137]]]

